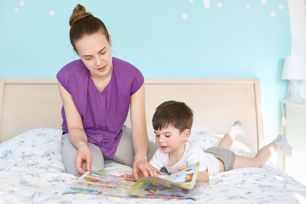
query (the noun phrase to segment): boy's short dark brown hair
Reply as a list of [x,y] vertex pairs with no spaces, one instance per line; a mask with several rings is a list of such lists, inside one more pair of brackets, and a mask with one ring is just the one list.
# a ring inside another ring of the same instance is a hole
[[180,132],[191,130],[194,112],[184,102],[166,101],[160,104],[153,115],[154,130],[161,130],[172,125]]

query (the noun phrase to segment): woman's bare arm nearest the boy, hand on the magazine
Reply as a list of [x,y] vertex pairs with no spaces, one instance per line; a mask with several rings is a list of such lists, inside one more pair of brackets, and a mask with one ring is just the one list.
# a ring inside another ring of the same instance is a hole
[[135,180],[139,179],[139,172],[143,176],[157,176],[156,169],[148,162],[147,151],[149,139],[147,134],[145,113],[145,87],[142,87],[131,95],[131,129],[133,150],[135,153],[133,163],[133,175]]

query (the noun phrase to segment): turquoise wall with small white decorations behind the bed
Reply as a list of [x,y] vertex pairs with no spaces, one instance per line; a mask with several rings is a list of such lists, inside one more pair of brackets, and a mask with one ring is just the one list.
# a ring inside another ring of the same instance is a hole
[[0,0],[0,77],[55,78],[78,59],[68,36],[77,3],[104,21],[113,56],[146,78],[260,78],[265,141],[280,133],[286,0],[210,0],[208,9],[203,0]]

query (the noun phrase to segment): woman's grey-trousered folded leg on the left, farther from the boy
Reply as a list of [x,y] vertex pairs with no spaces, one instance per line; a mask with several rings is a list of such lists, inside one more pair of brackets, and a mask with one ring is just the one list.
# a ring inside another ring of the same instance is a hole
[[[76,172],[74,165],[74,158],[78,154],[77,148],[71,143],[68,133],[64,134],[61,138],[61,154],[67,173],[80,177],[82,174]],[[104,168],[104,158],[100,148],[97,145],[88,143],[91,153],[91,170],[102,171]],[[86,162],[82,164],[83,169],[86,169]]]

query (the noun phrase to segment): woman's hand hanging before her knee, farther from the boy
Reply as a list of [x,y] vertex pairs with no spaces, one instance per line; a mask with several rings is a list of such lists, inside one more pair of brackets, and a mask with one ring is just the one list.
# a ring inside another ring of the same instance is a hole
[[[86,161],[86,170],[82,168],[84,161]],[[86,171],[90,171],[91,153],[86,143],[78,144],[78,154],[74,158],[74,165],[78,174],[84,174]]]

